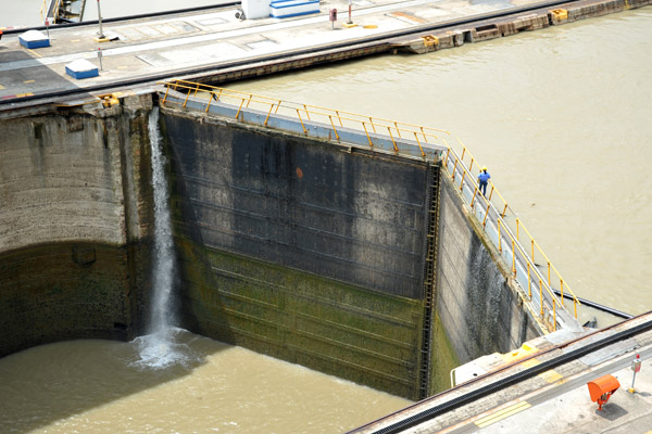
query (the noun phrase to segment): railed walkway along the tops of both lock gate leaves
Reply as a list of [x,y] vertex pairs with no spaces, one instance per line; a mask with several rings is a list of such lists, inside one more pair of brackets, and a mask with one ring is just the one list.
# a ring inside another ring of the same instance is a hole
[[[480,166],[462,141],[457,140],[457,151],[448,143],[446,139],[450,140],[451,137],[449,131],[191,81],[176,80],[164,82],[164,86],[165,91],[160,98],[162,105],[216,113],[239,122],[378,151],[440,159],[487,238],[512,270],[532,315],[538,316],[549,331],[556,330],[557,324],[577,324],[579,301],[567,282],[496,186],[489,181],[487,194],[479,192],[477,174]],[[561,297],[553,291],[556,283]],[[568,295],[573,314],[566,310],[564,304]]]

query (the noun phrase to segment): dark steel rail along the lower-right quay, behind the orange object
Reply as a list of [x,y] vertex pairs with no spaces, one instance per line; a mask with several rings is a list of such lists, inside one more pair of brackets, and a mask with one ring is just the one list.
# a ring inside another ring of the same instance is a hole
[[[649,314],[650,312],[642,314],[639,317],[642,317],[642,316],[649,315]],[[635,317],[635,318],[632,318],[632,319],[630,319],[628,321],[632,321],[632,320],[635,320],[635,319],[637,319],[639,317]],[[625,321],[625,322],[628,322],[628,321]],[[552,348],[549,348],[549,349],[547,349],[544,352],[541,352],[541,353],[538,353],[538,354],[534,354],[534,355],[531,355],[531,356],[529,356],[529,357],[527,357],[527,358],[525,358],[523,360],[519,360],[517,362],[514,362],[512,365],[509,365],[506,367],[498,369],[498,370],[496,370],[493,372],[490,372],[490,373],[484,374],[481,376],[477,376],[477,378],[475,378],[473,380],[469,380],[468,382],[463,383],[463,386],[468,386],[469,384],[479,382],[480,380],[486,379],[489,375],[496,374],[498,372],[505,371],[506,369],[512,368],[514,365],[522,363],[522,362],[524,362],[526,360],[529,360],[531,358],[541,357],[542,355],[549,354],[551,352],[562,349],[562,348],[567,347],[567,346],[569,346],[569,345],[572,345],[574,343],[577,343],[577,342],[579,342],[581,340],[585,340],[585,339],[587,339],[589,336],[592,336],[592,335],[594,335],[597,333],[604,332],[606,330],[615,328],[616,326],[622,326],[625,322],[612,326],[612,327],[606,328],[606,329],[602,329],[602,330],[595,331],[595,332],[593,332],[593,333],[591,333],[589,335],[581,336],[581,337],[578,337],[578,339],[569,341],[569,342],[565,342],[563,344],[560,344],[560,345],[556,345],[556,346],[554,346]],[[466,404],[472,403],[472,401],[474,401],[476,399],[482,398],[482,397],[485,397],[485,396],[487,396],[489,394],[497,393],[497,392],[499,392],[501,390],[504,390],[505,387],[509,387],[509,386],[511,386],[513,384],[516,384],[516,383],[518,383],[521,381],[528,380],[531,376],[538,375],[538,374],[543,373],[543,372],[546,372],[546,371],[548,371],[550,369],[554,369],[554,368],[556,368],[556,367],[559,367],[561,365],[567,363],[569,361],[576,360],[576,359],[578,359],[580,357],[586,356],[589,353],[595,352],[595,350],[598,350],[600,348],[603,348],[603,347],[605,347],[607,345],[615,344],[615,343],[617,343],[619,341],[629,339],[629,337],[631,337],[634,335],[637,335],[639,333],[645,332],[645,331],[648,331],[650,329],[652,329],[652,320],[643,322],[643,323],[638,324],[638,326],[635,326],[631,329],[614,333],[614,334],[612,334],[610,336],[603,337],[603,339],[601,339],[599,341],[595,341],[595,342],[593,342],[591,344],[588,344],[588,345],[586,345],[586,346],[584,346],[581,348],[573,349],[573,350],[570,350],[570,352],[568,352],[566,354],[563,354],[563,355],[561,355],[559,357],[555,357],[554,359],[543,361],[543,362],[541,362],[541,363],[539,363],[537,366],[534,366],[534,367],[527,368],[527,369],[525,369],[525,370],[523,370],[521,372],[511,374],[511,375],[506,376],[505,379],[503,379],[501,381],[494,382],[492,384],[487,384],[487,385],[484,385],[484,386],[479,386],[478,388],[476,388],[476,390],[474,390],[474,391],[472,391],[472,392],[469,392],[467,394],[464,394],[462,396],[459,396],[456,398],[453,398],[453,399],[451,399],[451,400],[449,400],[447,403],[442,403],[442,404],[436,405],[436,406],[430,407],[430,408],[428,408],[428,409],[426,409],[424,411],[421,411],[421,412],[418,412],[416,414],[408,417],[408,418],[405,418],[405,419],[403,419],[401,421],[394,422],[394,423],[392,423],[390,425],[387,425],[385,427],[380,427],[380,429],[378,429],[376,431],[373,431],[372,434],[397,434],[397,433],[401,433],[404,430],[408,430],[408,429],[416,426],[416,425],[418,425],[421,423],[427,422],[428,420],[431,420],[431,419],[434,419],[434,418],[436,418],[436,417],[438,417],[440,414],[443,414],[443,413],[446,413],[448,411],[451,411],[451,410],[454,410],[454,409],[456,409],[459,407],[462,407],[463,405],[466,405]],[[439,397],[439,396],[441,396],[441,395],[443,395],[446,393],[449,393],[450,391],[451,390],[442,392],[442,393],[437,394],[437,395],[434,395],[432,397],[427,398],[425,400],[422,400],[419,403],[419,405],[423,405],[424,403],[426,403],[428,400],[435,399],[436,397]],[[414,406],[416,406],[416,405],[414,405]],[[414,406],[411,406],[411,407],[414,407]],[[406,408],[411,408],[411,407],[406,407]],[[364,429],[365,426],[371,426],[372,424],[377,423],[378,421],[379,420],[369,422],[366,425],[363,425],[363,426],[360,426],[360,427],[358,427],[358,429],[355,429],[353,431],[350,431],[349,433],[355,433],[356,431],[359,431],[361,429]]]

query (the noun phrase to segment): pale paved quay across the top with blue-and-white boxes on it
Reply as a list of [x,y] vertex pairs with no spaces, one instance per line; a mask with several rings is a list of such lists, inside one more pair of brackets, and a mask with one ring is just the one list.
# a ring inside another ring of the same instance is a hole
[[[354,27],[348,21],[346,0],[322,1],[318,14],[293,18],[240,21],[236,9],[215,9],[175,16],[124,21],[103,25],[110,42],[97,42],[99,26],[51,28],[51,47],[26,49],[20,34],[0,40],[0,102],[116,80],[160,75],[192,67],[215,67],[238,61],[255,62],[272,54],[354,43],[361,38],[391,35],[424,24],[444,23],[494,11],[510,10],[532,0],[355,0]],[[338,22],[328,11],[338,10]],[[43,33],[46,33],[43,30]],[[98,56],[101,49],[102,61]],[[86,59],[100,76],[74,79],[65,65]]]

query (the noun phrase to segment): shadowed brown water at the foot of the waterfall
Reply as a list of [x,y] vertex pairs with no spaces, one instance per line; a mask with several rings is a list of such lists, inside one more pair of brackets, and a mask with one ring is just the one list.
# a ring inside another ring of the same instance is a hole
[[[211,355],[231,348],[183,329],[172,329],[172,333],[170,347],[150,345],[150,336],[127,343],[83,340],[42,345],[1,359],[0,432],[43,429],[178,381],[204,366]],[[161,357],[143,358],[143,346],[150,355],[160,349]]]

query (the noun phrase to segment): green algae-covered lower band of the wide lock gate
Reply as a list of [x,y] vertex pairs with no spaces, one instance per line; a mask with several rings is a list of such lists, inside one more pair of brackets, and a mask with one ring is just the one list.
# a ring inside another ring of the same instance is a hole
[[419,301],[179,240],[184,327],[416,398]]

